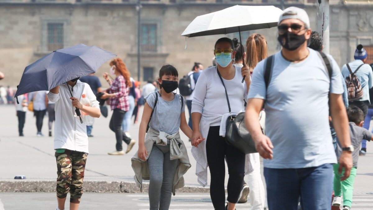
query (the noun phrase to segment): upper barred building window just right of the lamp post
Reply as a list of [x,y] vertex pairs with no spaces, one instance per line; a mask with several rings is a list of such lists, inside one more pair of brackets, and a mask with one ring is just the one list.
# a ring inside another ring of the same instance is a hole
[[157,52],[158,34],[156,23],[141,24],[141,50],[143,52]]

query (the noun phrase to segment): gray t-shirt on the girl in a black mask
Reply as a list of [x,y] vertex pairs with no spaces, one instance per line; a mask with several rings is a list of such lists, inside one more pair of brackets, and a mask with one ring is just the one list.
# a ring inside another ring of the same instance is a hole
[[183,99],[183,104],[181,105],[181,97],[183,96],[179,94],[175,94],[175,98],[172,101],[165,101],[158,92],[150,93],[145,98],[145,101],[152,109],[154,108],[156,94],[158,94],[158,102],[149,127],[172,135],[179,131],[180,115],[185,111],[185,100]]

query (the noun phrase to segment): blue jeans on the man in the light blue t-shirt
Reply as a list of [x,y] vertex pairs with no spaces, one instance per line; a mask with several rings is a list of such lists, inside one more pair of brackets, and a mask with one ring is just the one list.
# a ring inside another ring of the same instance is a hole
[[330,210],[333,165],[304,169],[264,168],[270,210]]

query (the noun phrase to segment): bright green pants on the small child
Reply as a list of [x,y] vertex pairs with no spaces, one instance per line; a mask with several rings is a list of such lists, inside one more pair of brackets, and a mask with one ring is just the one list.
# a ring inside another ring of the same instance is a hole
[[341,197],[343,192],[343,206],[351,208],[352,205],[352,193],[354,192],[354,182],[356,176],[356,167],[352,167],[350,176],[341,182],[341,176],[345,172],[342,170],[342,174],[338,173],[339,163],[333,165],[334,170],[334,196]]

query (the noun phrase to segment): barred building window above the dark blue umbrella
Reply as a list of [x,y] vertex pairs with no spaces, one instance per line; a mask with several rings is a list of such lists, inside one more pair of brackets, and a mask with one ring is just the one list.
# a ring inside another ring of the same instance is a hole
[[48,23],[47,30],[48,51],[62,49],[64,46],[63,23]]

